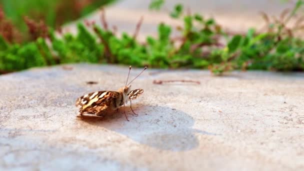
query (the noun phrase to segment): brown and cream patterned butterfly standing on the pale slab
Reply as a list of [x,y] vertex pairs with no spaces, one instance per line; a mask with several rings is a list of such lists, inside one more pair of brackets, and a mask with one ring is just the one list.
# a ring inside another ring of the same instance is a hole
[[[134,78],[136,79],[147,67]],[[76,106],[79,107],[79,114],[77,117],[81,117],[83,114],[95,114],[97,116],[104,116],[110,110],[118,110],[119,107],[125,106],[127,101],[130,101],[130,108],[132,112],[137,115],[132,109],[132,99],[137,98],[143,89],[133,89],[131,90],[131,85],[129,85],[134,79],[127,83],[130,75],[131,66],[129,66],[129,72],[126,78],[125,86],[119,88],[117,91],[96,91],[91,92],[81,97],[77,98]],[[127,115],[123,108],[123,113],[127,121]]]

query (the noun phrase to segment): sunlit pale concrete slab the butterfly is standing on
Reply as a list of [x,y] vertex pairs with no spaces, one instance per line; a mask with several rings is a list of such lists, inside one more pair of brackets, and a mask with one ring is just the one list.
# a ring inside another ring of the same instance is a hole
[[123,86],[127,67],[69,66],[0,76],[0,170],[304,169],[303,73],[147,69],[126,121],[76,118],[74,102]]

